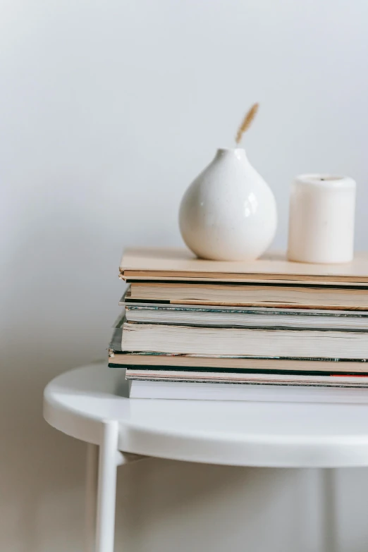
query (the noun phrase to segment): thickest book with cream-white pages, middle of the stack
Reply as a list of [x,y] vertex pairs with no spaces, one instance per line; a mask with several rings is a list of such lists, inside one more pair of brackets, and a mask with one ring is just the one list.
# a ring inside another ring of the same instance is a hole
[[368,333],[125,322],[121,350],[195,355],[368,359]]

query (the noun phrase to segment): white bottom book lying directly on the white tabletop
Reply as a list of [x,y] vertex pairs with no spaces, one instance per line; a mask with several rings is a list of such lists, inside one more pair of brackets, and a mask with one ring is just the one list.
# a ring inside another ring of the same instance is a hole
[[130,398],[367,404],[368,389],[133,380]]

